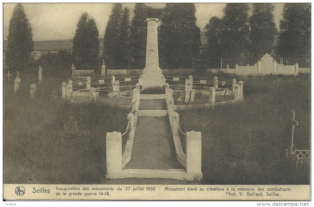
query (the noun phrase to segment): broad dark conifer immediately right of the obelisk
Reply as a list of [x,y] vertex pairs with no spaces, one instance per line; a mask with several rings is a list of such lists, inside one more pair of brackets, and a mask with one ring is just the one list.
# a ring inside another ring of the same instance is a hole
[[193,3],[167,3],[159,28],[160,54],[169,68],[191,67],[200,51]]

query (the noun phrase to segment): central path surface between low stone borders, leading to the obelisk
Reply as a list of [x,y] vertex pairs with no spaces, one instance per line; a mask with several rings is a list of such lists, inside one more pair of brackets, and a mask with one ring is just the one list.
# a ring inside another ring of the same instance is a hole
[[[165,100],[141,100],[140,109],[165,109]],[[124,169],[183,169],[168,117],[138,117],[131,160]]]

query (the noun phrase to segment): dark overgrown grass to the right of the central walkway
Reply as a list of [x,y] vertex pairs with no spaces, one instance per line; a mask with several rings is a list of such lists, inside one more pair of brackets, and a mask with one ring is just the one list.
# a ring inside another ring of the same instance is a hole
[[[310,75],[237,77],[244,101],[180,111],[184,131],[202,132],[204,184],[309,184],[308,165],[286,159],[288,117],[295,111],[297,149],[310,149]],[[184,143],[184,138],[181,138]]]

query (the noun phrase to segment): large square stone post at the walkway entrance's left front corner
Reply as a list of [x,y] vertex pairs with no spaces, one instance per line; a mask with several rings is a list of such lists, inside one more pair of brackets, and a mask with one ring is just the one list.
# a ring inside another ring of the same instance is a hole
[[[122,171],[122,136],[121,132],[107,132],[106,134],[106,167],[107,173],[121,173]],[[110,175],[109,175],[110,176]]]

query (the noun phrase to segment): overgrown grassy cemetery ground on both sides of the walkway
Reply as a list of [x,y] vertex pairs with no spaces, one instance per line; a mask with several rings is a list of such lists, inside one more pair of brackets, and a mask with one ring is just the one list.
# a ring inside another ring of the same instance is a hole
[[[202,133],[203,180],[188,182],[106,180],[106,132],[123,133],[129,109],[64,101],[61,83],[70,78],[70,71],[47,76],[43,69],[35,100],[30,100],[30,84],[38,82],[37,70],[20,72],[17,94],[13,94],[15,73],[11,80],[3,78],[3,183],[310,184],[310,166],[296,167],[295,161],[286,159],[291,110],[299,121],[294,144],[310,149],[310,74],[202,74],[242,80],[244,101],[178,112],[182,131]],[[181,143],[184,148],[184,137]]]

